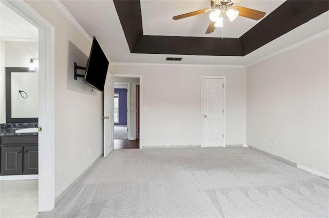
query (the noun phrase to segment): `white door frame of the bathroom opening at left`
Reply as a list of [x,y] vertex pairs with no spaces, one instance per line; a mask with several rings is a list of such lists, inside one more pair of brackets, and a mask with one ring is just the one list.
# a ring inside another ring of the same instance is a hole
[[39,29],[39,211],[55,206],[54,197],[54,58],[55,29],[24,1],[3,0]]

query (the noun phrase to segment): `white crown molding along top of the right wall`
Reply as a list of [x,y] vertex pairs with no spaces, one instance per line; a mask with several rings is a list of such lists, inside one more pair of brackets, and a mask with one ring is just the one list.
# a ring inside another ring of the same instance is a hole
[[276,52],[274,52],[274,53],[272,53],[272,54],[270,54],[270,55],[268,55],[268,56],[266,56],[266,57],[263,57],[263,58],[261,58],[261,59],[259,59],[259,60],[256,60],[256,61],[254,61],[254,62],[251,62],[251,63],[247,64],[246,67],[250,67],[250,66],[252,66],[253,64],[256,64],[256,63],[262,62],[262,61],[267,60],[267,59],[269,59],[269,58],[271,58],[271,57],[273,57],[273,56],[277,56],[277,55],[282,54],[282,53],[285,53],[285,52],[287,52],[287,51],[290,51],[290,50],[296,49],[296,48],[301,47],[301,46],[303,46],[303,45],[306,45],[307,43],[312,42],[312,41],[314,41],[314,40],[316,40],[316,39],[322,38],[322,37],[324,37],[324,36],[326,36],[326,35],[329,35],[329,29],[326,29],[326,30],[324,30],[324,31],[322,31],[322,32],[320,32],[320,33],[317,33],[317,34],[315,34],[315,35],[313,35],[313,36],[310,36],[310,37],[308,37],[308,38],[306,38],[306,39],[303,39],[303,40],[301,40],[301,41],[299,41],[299,42],[296,42],[296,43],[294,43],[294,44],[291,45],[291,46],[287,46],[287,47],[285,47],[285,48],[283,48],[283,49],[281,49],[281,50],[279,50],[279,51],[276,51]]

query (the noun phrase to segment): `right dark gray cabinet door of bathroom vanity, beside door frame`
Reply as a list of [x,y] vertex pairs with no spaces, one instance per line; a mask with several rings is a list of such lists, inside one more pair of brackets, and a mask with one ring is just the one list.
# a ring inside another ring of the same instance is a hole
[[38,146],[24,146],[24,174],[38,174]]

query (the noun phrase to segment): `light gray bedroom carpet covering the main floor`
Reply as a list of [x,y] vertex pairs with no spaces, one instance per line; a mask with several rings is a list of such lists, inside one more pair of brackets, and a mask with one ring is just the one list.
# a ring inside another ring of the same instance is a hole
[[329,181],[249,148],[120,149],[40,217],[329,216]]

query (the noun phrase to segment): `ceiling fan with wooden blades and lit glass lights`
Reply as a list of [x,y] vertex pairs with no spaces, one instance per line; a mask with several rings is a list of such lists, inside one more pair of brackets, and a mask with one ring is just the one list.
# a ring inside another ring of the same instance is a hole
[[180,14],[174,16],[173,19],[177,20],[210,12],[210,24],[206,31],[206,34],[209,34],[214,32],[216,27],[224,27],[225,14],[230,21],[233,21],[237,16],[243,16],[254,20],[259,20],[265,16],[266,13],[263,11],[257,11],[241,6],[232,7],[234,3],[241,1],[242,0],[212,0],[211,8]]

